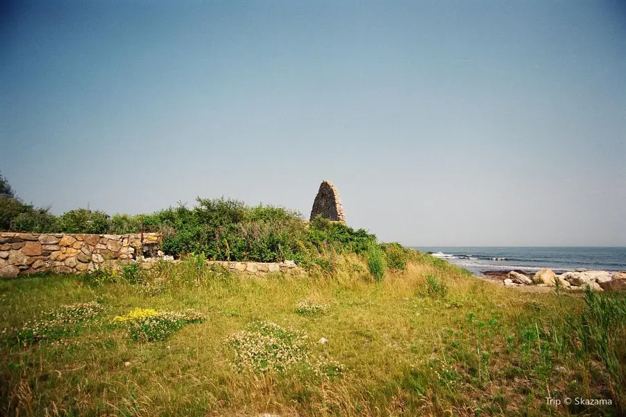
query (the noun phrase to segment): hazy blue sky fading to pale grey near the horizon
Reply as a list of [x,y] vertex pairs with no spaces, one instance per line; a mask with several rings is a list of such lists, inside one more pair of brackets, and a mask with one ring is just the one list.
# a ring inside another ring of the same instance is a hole
[[232,197],[412,246],[626,246],[619,0],[9,1],[0,172],[53,213]]

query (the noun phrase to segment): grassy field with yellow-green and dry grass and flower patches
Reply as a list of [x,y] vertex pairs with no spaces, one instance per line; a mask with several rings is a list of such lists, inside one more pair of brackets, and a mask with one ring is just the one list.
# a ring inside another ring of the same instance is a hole
[[192,259],[135,284],[0,281],[0,414],[626,411],[623,298],[522,293],[426,255],[381,282],[357,256],[337,262],[305,278],[241,277]]

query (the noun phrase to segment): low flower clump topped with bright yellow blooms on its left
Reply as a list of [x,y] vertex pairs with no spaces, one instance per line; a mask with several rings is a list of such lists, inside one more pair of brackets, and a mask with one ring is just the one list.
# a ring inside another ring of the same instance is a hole
[[173,332],[189,323],[201,322],[204,317],[193,310],[184,313],[135,308],[124,316],[115,316],[113,321],[127,326],[131,338],[136,341],[163,341]]

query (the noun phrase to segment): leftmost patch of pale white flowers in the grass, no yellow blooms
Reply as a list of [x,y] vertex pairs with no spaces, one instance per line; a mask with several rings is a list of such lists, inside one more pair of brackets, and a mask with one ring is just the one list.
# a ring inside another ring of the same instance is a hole
[[104,307],[97,302],[63,305],[61,308],[42,313],[35,320],[27,321],[21,329],[13,329],[23,345],[33,341],[58,338],[75,334],[81,322],[98,316]]

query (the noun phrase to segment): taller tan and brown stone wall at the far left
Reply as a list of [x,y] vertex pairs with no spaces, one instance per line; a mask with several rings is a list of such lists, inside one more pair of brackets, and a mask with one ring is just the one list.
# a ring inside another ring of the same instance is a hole
[[141,256],[157,256],[161,234],[0,233],[0,277],[53,271],[90,272]]

